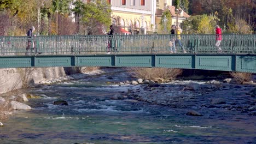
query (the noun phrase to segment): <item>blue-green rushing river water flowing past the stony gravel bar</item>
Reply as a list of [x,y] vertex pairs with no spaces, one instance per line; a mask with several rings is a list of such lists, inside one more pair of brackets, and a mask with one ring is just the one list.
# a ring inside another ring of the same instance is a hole
[[[113,100],[130,85],[125,73],[33,88],[31,111],[15,112],[0,127],[0,143],[256,143],[255,116],[219,110],[209,116],[131,98]],[[68,106],[53,105],[66,100]]]

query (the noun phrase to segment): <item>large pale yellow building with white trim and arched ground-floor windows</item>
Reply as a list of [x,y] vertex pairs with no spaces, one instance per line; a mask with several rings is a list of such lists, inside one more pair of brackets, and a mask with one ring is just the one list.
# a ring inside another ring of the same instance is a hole
[[110,1],[110,5],[113,25],[118,25],[134,34],[141,28],[146,32],[153,31],[156,0]]

